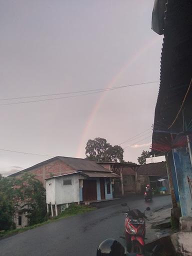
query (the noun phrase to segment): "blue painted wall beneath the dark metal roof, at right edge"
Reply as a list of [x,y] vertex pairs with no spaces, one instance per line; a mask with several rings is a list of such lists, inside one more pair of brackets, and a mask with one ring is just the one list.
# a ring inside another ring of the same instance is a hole
[[173,160],[178,184],[179,201],[182,216],[192,216],[192,198],[187,176],[192,178],[189,153],[186,148],[173,149]]

